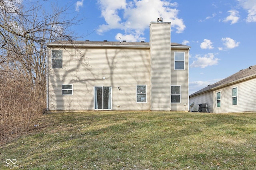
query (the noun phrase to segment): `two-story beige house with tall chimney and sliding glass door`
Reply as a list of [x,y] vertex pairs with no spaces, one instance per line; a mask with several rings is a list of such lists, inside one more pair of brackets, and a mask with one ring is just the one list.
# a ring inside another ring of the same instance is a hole
[[149,43],[49,43],[47,109],[188,111],[190,47],[171,43],[170,28],[151,22]]

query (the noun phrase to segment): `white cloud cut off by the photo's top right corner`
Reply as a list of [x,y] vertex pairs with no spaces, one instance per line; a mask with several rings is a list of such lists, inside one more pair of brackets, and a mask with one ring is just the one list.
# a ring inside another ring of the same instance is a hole
[[256,1],[255,0],[238,0],[242,8],[247,10],[247,22],[256,22]]

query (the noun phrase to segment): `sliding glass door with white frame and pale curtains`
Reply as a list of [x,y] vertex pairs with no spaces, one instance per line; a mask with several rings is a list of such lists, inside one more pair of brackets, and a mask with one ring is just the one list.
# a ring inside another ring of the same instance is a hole
[[94,86],[94,109],[112,109],[111,86]]

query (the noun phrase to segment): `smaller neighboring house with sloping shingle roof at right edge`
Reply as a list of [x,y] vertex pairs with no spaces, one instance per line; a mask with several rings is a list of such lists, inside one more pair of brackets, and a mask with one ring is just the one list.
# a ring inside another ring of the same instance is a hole
[[190,109],[198,111],[199,104],[208,104],[212,113],[256,111],[255,88],[256,65],[191,94]]

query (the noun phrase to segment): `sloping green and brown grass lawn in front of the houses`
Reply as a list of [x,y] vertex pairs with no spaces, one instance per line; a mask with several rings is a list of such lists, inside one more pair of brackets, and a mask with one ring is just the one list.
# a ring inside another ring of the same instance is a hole
[[1,146],[0,169],[256,169],[256,113],[52,113],[38,125]]

